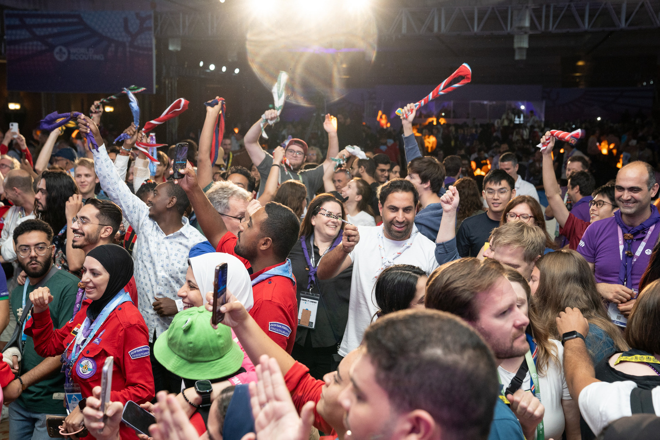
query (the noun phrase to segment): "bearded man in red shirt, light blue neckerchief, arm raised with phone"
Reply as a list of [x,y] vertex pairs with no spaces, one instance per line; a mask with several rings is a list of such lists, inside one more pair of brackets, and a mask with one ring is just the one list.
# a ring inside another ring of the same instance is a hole
[[192,168],[177,183],[185,190],[197,213],[204,235],[216,251],[236,255],[251,269],[254,305],[249,314],[261,330],[288,354],[293,350],[298,327],[296,278],[287,258],[298,240],[300,221],[287,206],[271,202],[248,204],[239,224],[238,237],[228,231],[220,214],[206,197]]

